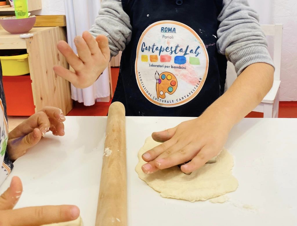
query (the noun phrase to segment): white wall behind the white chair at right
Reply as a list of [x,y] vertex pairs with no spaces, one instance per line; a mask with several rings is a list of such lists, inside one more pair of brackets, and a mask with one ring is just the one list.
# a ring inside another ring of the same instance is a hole
[[260,14],[261,24],[284,24],[280,100],[297,101],[296,0],[249,0],[249,3]]

